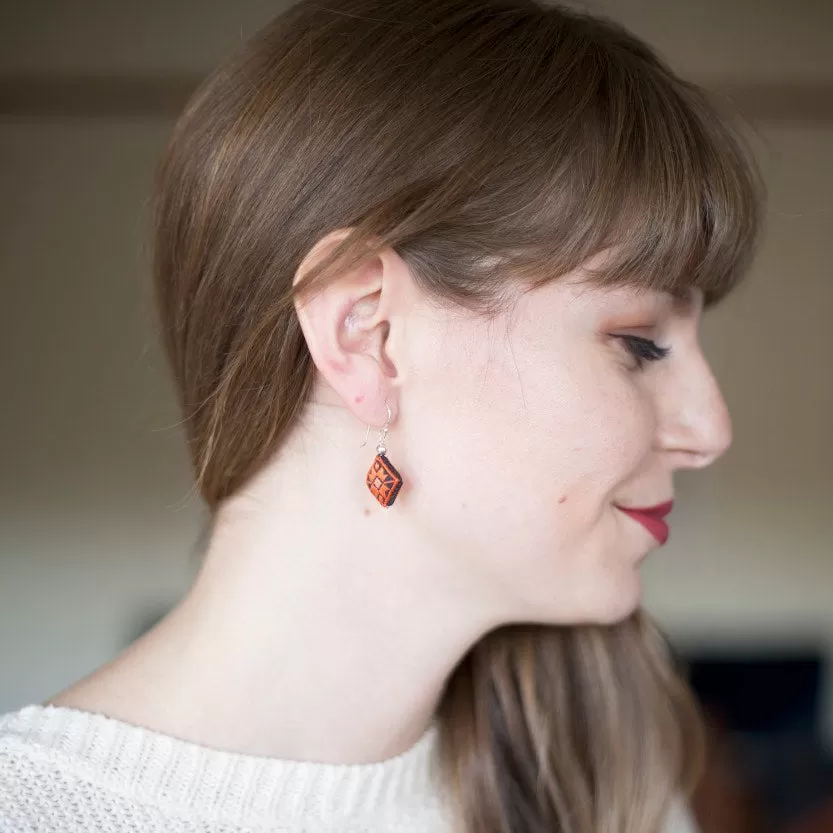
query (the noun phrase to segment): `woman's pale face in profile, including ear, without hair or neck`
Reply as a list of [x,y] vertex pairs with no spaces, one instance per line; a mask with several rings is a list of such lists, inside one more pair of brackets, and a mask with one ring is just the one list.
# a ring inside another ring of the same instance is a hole
[[[439,303],[389,249],[299,304],[316,401],[357,416],[357,435],[392,410],[397,536],[465,565],[495,624],[630,614],[664,535],[624,510],[668,503],[676,470],[730,442],[701,290],[589,283],[604,258],[509,285],[484,316]],[[360,477],[355,491],[373,506]]]

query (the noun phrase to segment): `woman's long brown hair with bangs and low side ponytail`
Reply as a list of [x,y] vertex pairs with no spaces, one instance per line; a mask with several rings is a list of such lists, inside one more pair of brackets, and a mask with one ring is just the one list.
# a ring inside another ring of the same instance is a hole
[[[392,247],[427,292],[489,314],[510,281],[608,250],[594,280],[714,303],[760,201],[738,131],[609,21],[532,0],[302,0],[202,84],[159,169],[155,289],[205,500],[301,418],[296,292]],[[488,634],[439,720],[467,833],[651,833],[696,768],[696,712],[641,614]]]

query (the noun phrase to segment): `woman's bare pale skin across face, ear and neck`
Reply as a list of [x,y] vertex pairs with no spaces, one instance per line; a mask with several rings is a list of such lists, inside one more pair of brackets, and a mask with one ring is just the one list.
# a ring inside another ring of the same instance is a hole
[[[657,541],[617,505],[671,499],[731,426],[696,294],[581,278],[485,320],[386,250],[299,301],[318,370],[303,423],[222,506],[181,603],[51,702],[248,754],[376,761],[420,737],[489,630],[626,617]],[[640,367],[625,336],[670,353]],[[387,407],[405,485],[382,508],[364,483],[377,435],[361,442]]]

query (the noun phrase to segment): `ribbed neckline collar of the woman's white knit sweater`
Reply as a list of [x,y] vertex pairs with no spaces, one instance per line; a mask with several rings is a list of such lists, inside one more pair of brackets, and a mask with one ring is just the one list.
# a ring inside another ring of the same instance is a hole
[[371,816],[393,823],[403,813],[440,812],[436,724],[401,755],[371,764],[225,752],[51,705],[0,717],[0,736],[101,788],[164,805],[171,813],[312,828],[352,826]]

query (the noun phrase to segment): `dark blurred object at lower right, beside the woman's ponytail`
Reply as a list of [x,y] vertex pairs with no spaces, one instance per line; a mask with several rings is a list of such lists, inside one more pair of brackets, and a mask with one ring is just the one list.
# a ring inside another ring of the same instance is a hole
[[829,812],[826,820],[821,815],[833,799],[833,760],[819,720],[822,657],[686,656],[710,723],[709,765],[695,800],[703,833],[792,833],[805,824],[812,833],[833,833]]

